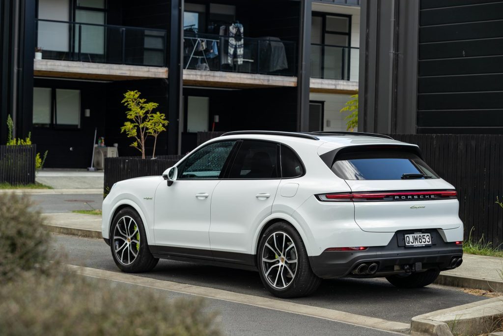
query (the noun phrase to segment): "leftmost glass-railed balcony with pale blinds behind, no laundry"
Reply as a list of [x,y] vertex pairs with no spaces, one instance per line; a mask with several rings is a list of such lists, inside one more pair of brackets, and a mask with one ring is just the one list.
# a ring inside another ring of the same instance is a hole
[[160,29],[36,20],[43,59],[166,66],[166,31]]

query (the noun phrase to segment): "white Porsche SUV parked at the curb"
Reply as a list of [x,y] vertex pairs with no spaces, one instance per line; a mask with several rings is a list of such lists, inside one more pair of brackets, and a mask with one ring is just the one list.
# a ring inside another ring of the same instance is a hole
[[159,258],[259,270],[279,297],[321,279],[431,284],[462,262],[454,187],[415,145],[353,132],[229,132],[163,176],[121,181],[102,233],[124,272]]

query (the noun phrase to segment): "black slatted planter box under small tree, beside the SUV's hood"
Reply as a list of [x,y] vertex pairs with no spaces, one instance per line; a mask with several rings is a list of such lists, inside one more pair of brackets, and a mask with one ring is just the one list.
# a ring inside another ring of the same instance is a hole
[[108,194],[115,182],[142,176],[160,176],[167,168],[174,166],[183,155],[163,155],[157,159],[141,157],[118,157],[105,159],[104,194]]

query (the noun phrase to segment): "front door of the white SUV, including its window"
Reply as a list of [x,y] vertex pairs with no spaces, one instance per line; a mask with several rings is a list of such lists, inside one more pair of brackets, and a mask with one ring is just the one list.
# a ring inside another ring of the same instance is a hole
[[157,188],[155,244],[176,247],[164,249],[166,254],[211,256],[210,204],[235,143],[220,141],[201,148],[177,166],[178,179],[171,186]]

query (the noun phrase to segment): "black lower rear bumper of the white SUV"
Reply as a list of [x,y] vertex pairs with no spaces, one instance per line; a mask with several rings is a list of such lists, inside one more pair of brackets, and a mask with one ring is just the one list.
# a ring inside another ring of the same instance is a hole
[[[454,242],[446,243],[436,230],[428,230],[435,238],[435,244],[425,247],[406,248],[398,246],[397,233],[387,246],[369,247],[364,251],[325,251],[317,256],[310,256],[311,268],[318,277],[331,278],[375,278],[403,273],[402,265],[421,262],[422,269],[435,268],[449,270],[454,257],[463,255],[463,248]],[[355,275],[354,268],[362,262],[377,263],[377,272],[373,275]]]

